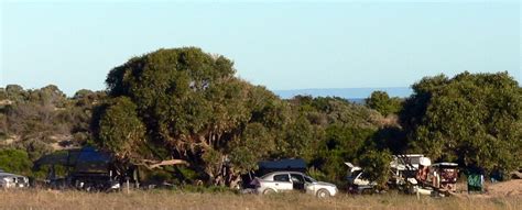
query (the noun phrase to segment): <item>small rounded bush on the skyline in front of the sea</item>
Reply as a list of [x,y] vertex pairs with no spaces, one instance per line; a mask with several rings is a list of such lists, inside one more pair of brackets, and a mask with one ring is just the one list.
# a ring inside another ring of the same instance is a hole
[[396,114],[401,110],[401,99],[390,98],[384,91],[373,91],[371,96],[366,99],[366,104],[379,111],[382,115]]

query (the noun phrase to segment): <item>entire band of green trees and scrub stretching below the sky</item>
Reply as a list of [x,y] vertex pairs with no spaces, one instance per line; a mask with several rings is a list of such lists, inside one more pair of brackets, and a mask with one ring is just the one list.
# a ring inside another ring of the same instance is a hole
[[390,155],[409,152],[487,170],[522,167],[522,89],[505,73],[426,77],[405,101],[383,91],[366,106],[336,97],[281,100],[235,77],[230,59],[183,47],[134,57],[106,82],[107,91],[83,89],[73,98],[53,85],[0,88],[0,148],[36,159],[95,144],[122,163],[189,163],[146,178],[229,187],[259,161],[291,157],[337,184],[352,162],[382,185]]

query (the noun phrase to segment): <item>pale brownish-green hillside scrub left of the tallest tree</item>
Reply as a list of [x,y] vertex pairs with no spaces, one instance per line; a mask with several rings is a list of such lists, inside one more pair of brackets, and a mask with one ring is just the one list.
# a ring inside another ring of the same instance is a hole
[[94,100],[84,97],[79,103],[79,97],[69,99],[54,85],[29,90],[9,85],[2,92],[6,99],[0,102],[0,134],[9,141],[1,146],[24,150],[36,159],[55,148],[78,146],[91,139]]

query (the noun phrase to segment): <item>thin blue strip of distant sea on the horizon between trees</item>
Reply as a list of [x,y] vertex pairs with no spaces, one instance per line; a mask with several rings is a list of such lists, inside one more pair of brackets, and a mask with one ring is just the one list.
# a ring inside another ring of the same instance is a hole
[[413,90],[407,87],[395,88],[324,88],[324,89],[294,89],[294,90],[273,90],[283,99],[291,99],[295,96],[312,97],[339,97],[356,103],[363,103],[365,99],[370,97],[371,92],[380,90],[385,91],[390,97],[406,98]]

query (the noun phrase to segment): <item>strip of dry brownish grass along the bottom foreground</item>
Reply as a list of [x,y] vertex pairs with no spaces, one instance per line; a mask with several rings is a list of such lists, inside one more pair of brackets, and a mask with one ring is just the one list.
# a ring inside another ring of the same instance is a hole
[[236,195],[168,190],[87,194],[80,191],[0,190],[0,209],[522,209],[522,197],[431,198],[387,194],[340,194],[317,199],[302,194]]

